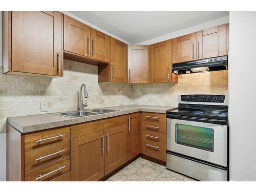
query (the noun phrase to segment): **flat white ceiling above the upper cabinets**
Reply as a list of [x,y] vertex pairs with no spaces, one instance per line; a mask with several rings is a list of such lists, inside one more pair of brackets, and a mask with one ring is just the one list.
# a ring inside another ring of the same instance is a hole
[[229,11],[68,12],[131,44],[137,44],[229,15]]

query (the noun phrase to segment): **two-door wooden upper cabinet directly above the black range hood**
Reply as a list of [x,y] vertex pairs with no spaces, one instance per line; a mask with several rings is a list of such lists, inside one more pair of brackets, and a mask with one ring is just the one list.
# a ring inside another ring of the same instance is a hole
[[227,55],[229,25],[212,27],[172,40],[173,63]]

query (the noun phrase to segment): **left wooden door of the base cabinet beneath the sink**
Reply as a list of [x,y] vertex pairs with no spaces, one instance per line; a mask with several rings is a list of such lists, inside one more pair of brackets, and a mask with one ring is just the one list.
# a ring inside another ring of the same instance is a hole
[[71,181],[104,176],[103,131],[71,139]]

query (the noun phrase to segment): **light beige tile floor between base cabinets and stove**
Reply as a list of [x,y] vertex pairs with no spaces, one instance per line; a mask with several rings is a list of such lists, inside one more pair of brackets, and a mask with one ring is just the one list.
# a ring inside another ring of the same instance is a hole
[[139,157],[106,181],[196,181]]

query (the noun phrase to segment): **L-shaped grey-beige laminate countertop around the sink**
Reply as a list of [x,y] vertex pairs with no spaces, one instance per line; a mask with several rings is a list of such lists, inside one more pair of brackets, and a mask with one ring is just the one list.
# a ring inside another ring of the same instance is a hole
[[53,127],[82,123],[98,119],[125,115],[135,112],[166,113],[166,110],[175,109],[175,106],[152,106],[152,105],[122,105],[104,109],[119,110],[111,113],[95,114],[83,117],[66,117],[54,113],[41,115],[28,115],[20,117],[9,117],[7,122],[21,133],[29,133],[39,130],[46,130]]

